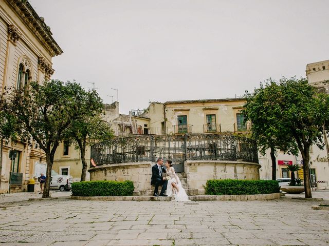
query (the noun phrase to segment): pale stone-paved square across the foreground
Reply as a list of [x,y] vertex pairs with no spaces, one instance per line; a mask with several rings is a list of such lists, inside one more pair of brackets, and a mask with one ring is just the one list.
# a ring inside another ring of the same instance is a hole
[[2,203],[1,245],[329,245],[318,201]]

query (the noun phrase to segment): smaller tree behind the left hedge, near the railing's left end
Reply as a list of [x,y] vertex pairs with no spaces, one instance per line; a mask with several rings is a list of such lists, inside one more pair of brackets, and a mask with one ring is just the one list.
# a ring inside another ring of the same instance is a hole
[[108,122],[104,121],[99,114],[103,110],[101,99],[99,98],[94,103],[97,104],[94,107],[95,110],[87,113],[88,115],[83,119],[75,120],[66,134],[66,140],[74,144],[76,149],[80,150],[82,162],[81,181],[85,181],[88,168],[85,159],[86,146],[94,144],[95,141],[102,141],[113,137],[113,132]]

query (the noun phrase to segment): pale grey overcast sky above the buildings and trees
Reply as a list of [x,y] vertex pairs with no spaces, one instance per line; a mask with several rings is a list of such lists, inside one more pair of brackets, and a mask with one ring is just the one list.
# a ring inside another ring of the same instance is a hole
[[329,59],[329,1],[29,0],[64,53],[52,78],[94,82],[120,113],[234,98]]

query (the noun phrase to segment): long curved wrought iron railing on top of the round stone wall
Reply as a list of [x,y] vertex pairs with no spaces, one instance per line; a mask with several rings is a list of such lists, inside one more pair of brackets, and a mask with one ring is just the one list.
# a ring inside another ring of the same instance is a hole
[[242,160],[258,163],[254,140],[225,134],[133,135],[95,144],[90,158],[97,166],[114,163],[185,160]]

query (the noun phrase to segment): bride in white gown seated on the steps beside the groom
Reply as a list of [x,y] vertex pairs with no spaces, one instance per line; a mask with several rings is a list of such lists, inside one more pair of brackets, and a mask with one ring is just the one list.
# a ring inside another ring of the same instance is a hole
[[186,194],[184,188],[181,186],[179,177],[177,176],[175,169],[173,168],[173,163],[171,160],[167,160],[165,163],[166,173],[170,177],[167,184],[167,195],[174,195],[175,201],[190,201],[188,195]]

